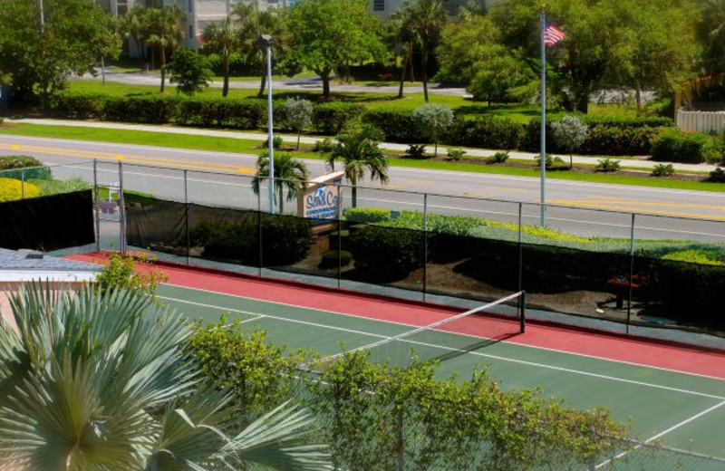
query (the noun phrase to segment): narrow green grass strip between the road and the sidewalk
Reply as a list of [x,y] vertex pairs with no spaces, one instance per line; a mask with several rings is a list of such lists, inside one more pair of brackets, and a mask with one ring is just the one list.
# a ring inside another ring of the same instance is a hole
[[[260,141],[265,138],[260,135],[259,140],[218,138],[206,136],[189,136],[184,134],[171,134],[163,132],[148,132],[137,130],[105,130],[94,128],[81,128],[73,126],[47,126],[38,124],[19,124],[13,127],[0,128],[0,133],[16,136],[34,136],[57,139],[81,139],[101,142],[118,142],[122,144],[139,144],[148,146],[163,146],[176,149],[199,149],[220,152],[238,152],[258,154]],[[310,151],[309,146],[302,150],[293,151],[293,155],[304,159],[323,159],[321,154]],[[500,167],[496,165],[477,165],[465,162],[449,162],[440,160],[391,159],[391,167],[428,168],[448,171],[488,173],[498,175],[514,175],[519,177],[539,176],[538,168]],[[714,191],[725,193],[724,183],[704,183],[698,181],[681,181],[669,178],[647,178],[627,175],[605,173],[578,173],[567,171],[548,172],[548,178],[575,181],[587,181],[602,184],[622,184],[642,187],[662,187],[673,189],[689,189],[699,191]]]

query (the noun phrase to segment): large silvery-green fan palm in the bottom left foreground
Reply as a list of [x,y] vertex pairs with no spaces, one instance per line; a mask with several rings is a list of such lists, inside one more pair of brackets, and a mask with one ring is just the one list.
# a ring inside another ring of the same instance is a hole
[[11,297],[0,328],[0,462],[11,469],[277,469],[326,466],[297,446],[311,419],[287,404],[239,433],[231,398],[184,351],[189,324],[139,292],[40,284]]

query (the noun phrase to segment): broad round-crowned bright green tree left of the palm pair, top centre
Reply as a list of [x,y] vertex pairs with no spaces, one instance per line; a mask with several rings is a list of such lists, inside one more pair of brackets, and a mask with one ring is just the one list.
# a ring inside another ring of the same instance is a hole
[[382,23],[366,0],[300,0],[285,15],[290,34],[287,62],[314,71],[330,97],[335,68],[384,53]]

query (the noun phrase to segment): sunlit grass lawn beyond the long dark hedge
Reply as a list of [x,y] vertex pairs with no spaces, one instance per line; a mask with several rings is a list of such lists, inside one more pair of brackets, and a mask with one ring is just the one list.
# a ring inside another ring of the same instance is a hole
[[[258,77],[237,77],[239,81],[258,81]],[[216,79],[215,79],[216,80]],[[221,82],[221,79],[218,78]],[[361,82],[357,82],[361,83]],[[380,108],[415,108],[425,103],[422,93],[406,93],[401,99],[397,93],[382,93],[374,91],[371,86],[369,92],[335,92],[333,84],[333,96],[338,101],[349,101],[361,103],[368,109],[375,110]],[[72,91],[86,91],[94,93],[109,93],[111,95],[128,95],[139,93],[158,93],[157,85],[127,85],[117,82],[106,82],[103,86],[99,81],[73,81],[71,82]],[[168,93],[175,93],[173,89],[169,89]],[[229,96],[235,98],[256,98],[255,89],[230,89]],[[203,96],[221,96],[221,89],[208,88],[201,93]],[[275,99],[285,100],[287,98],[303,96],[310,100],[318,100],[322,96],[322,91],[275,91]],[[527,123],[532,118],[539,115],[536,106],[522,105],[516,103],[494,104],[490,108],[482,101],[472,101],[461,96],[435,95],[430,94],[430,102],[448,105],[450,108],[459,112],[464,117],[474,117],[479,114],[494,114],[506,117],[511,120]],[[636,112],[630,108],[621,105],[600,105],[591,104],[590,114],[603,116],[635,116]]]

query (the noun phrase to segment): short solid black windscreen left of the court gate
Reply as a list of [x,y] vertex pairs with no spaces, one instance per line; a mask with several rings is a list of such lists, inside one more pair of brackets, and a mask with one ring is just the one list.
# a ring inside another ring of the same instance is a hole
[[49,251],[94,241],[90,189],[0,203],[0,247]]

